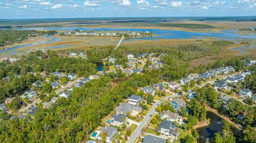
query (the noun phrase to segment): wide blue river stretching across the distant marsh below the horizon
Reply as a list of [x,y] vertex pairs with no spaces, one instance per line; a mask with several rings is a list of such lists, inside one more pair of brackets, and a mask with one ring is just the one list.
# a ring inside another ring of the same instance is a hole
[[19,30],[91,30],[91,31],[150,31],[158,36],[153,37],[141,37],[133,38],[132,40],[145,39],[145,40],[155,40],[155,39],[191,39],[191,38],[203,38],[203,37],[214,37],[221,39],[256,39],[256,35],[239,35],[238,33],[231,33],[237,29],[231,29],[226,31],[217,32],[186,32],[178,30],[162,30],[162,29],[137,29],[137,28],[81,28],[81,27],[53,27],[53,28],[23,28]]

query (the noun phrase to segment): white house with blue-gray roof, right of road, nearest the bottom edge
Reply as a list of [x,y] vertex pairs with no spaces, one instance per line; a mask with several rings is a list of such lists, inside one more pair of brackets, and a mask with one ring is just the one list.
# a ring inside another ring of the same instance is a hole
[[158,132],[162,135],[170,137],[171,142],[178,139],[179,131],[175,124],[171,121],[164,120],[158,128]]

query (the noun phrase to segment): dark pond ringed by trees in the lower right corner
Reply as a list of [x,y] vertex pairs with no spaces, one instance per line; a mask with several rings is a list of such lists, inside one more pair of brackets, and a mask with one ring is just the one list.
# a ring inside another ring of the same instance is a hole
[[[199,139],[197,139],[198,143],[204,143],[207,138],[211,139],[215,133],[222,131],[223,119],[221,119],[221,117],[212,112],[207,112],[207,118],[211,119],[211,123],[206,127],[197,129],[197,132],[200,136]],[[239,132],[237,129],[232,130],[235,134]]]

